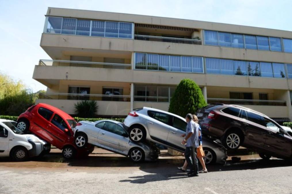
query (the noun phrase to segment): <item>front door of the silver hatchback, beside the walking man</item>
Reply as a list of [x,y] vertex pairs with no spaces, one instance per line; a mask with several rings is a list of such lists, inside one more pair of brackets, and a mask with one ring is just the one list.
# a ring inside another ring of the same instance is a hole
[[172,119],[172,123],[171,123],[171,126],[169,127],[170,130],[169,130],[167,141],[169,144],[173,145],[172,146],[173,148],[184,151],[185,145],[181,144],[184,137],[180,137],[180,136],[185,134],[187,123],[176,116],[172,116],[171,119]]

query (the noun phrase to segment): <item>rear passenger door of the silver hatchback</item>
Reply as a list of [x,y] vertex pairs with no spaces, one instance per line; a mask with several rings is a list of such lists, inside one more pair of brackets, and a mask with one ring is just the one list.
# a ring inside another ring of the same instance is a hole
[[161,142],[167,141],[171,116],[158,111],[147,113],[147,127],[151,138]]

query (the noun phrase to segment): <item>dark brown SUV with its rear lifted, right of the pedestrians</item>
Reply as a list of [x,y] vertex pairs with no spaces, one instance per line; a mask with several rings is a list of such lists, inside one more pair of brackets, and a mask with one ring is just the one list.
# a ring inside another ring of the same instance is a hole
[[291,158],[292,137],[266,115],[227,104],[210,104],[198,110],[203,134],[221,140],[227,149],[244,146],[269,159]]

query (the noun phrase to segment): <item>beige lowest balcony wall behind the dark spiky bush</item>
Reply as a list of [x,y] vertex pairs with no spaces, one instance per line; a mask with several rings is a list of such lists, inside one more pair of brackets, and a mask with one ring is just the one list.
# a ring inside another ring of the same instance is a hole
[[[74,114],[74,104],[78,100],[38,99],[37,103],[46,103],[55,106],[68,114]],[[98,115],[124,116],[130,112],[130,102],[97,101]]]

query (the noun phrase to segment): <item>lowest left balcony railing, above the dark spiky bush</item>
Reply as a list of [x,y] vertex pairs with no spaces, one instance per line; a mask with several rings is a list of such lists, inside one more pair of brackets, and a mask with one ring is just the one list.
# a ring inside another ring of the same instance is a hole
[[130,95],[71,94],[71,93],[46,93],[46,94],[42,94],[42,93],[40,93],[39,99],[97,100],[97,101],[130,102]]

